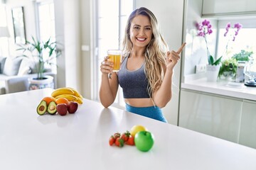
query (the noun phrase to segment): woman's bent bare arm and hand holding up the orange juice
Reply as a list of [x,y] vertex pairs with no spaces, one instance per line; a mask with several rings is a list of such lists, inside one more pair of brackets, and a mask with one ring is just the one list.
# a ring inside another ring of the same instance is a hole
[[[107,61],[108,57],[101,63],[100,71],[102,72],[102,81],[100,84],[100,102],[107,108],[114,103],[114,99],[117,96],[118,79],[117,74],[112,72],[112,62]],[[111,79],[108,74],[112,73]]]

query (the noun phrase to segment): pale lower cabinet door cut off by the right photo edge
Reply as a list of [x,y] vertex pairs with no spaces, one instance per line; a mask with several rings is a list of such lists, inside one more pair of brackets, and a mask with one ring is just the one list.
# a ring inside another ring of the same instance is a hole
[[244,101],[239,143],[256,148],[256,102]]

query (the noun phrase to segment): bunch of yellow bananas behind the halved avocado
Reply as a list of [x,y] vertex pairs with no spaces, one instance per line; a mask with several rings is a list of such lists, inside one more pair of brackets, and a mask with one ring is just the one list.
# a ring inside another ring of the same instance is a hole
[[71,87],[61,87],[55,89],[51,96],[54,98],[67,98],[68,101],[75,101],[82,104],[82,95]]

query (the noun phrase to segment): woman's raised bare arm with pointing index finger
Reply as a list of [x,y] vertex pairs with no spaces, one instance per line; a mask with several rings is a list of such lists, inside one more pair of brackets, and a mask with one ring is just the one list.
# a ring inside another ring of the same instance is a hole
[[180,59],[179,54],[181,53],[185,45],[186,43],[183,43],[183,45],[181,45],[177,52],[175,52],[174,50],[172,50],[171,52],[167,52],[166,72],[164,73],[164,79],[160,88],[154,93],[154,103],[159,108],[163,108],[171,100],[171,84],[174,67]]

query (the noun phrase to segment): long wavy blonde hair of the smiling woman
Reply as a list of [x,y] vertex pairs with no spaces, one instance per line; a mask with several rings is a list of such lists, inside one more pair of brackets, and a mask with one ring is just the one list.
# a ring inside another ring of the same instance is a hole
[[132,51],[132,41],[130,39],[129,31],[133,18],[139,15],[149,18],[153,31],[151,41],[146,46],[145,51],[145,72],[146,78],[149,81],[148,92],[149,96],[153,98],[154,92],[160,88],[163,81],[164,72],[166,69],[166,52],[168,50],[168,45],[161,36],[159,24],[157,23],[154,13],[149,11],[147,8],[141,7],[134,10],[128,18],[123,40],[124,55],[127,56],[127,54]]

